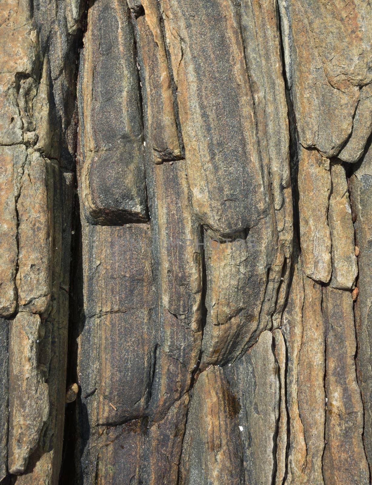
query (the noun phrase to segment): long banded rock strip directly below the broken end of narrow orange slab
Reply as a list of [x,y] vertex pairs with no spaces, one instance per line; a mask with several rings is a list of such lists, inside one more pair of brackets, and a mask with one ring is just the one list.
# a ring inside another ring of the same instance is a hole
[[[150,416],[162,420],[190,388],[202,343],[202,243],[192,213],[185,161],[153,165],[156,187],[150,204],[158,265],[159,329]],[[149,185],[150,186],[150,185]],[[151,185],[152,186],[152,185]]]

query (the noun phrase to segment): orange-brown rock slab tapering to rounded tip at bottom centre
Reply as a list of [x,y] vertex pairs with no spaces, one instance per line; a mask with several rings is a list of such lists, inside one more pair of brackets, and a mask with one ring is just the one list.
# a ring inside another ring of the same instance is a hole
[[202,372],[187,415],[180,483],[241,483],[243,459],[237,414],[236,399],[223,370],[214,366]]

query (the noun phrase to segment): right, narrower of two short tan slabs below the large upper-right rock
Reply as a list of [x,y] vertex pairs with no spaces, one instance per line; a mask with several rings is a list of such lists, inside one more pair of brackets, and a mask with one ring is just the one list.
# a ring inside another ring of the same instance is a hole
[[351,289],[358,274],[355,255],[354,226],[351,215],[345,170],[331,165],[331,196],[329,198],[328,225],[332,238],[333,288]]

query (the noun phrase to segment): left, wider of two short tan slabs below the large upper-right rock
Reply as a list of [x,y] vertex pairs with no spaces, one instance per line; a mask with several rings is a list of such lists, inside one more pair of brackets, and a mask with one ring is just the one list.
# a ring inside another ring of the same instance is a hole
[[301,148],[298,211],[303,268],[310,278],[325,283],[332,273],[331,234],[327,225],[330,190],[329,160],[316,150]]

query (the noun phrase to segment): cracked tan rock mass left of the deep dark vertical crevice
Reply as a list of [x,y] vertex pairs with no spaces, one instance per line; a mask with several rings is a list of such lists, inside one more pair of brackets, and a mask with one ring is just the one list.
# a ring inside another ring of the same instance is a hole
[[1,320],[0,345],[4,483],[57,484],[61,467],[80,28],[73,18],[81,13],[66,3],[0,6],[0,315],[10,319]]

